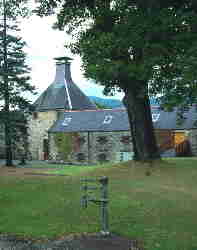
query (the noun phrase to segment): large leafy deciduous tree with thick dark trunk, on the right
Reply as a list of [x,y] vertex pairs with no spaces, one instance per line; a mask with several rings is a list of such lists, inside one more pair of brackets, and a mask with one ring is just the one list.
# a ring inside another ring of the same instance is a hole
[[110,93],[121,89],[137,160],[160,157],[150,95],[163,105],[196,101],[195,0],[40,0],[39,14],[58,7],[56,27],[73,34],[86,77]]

